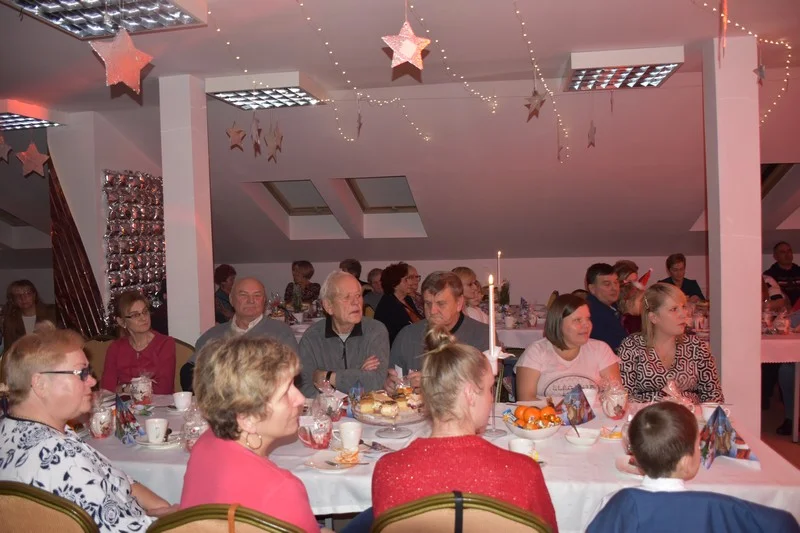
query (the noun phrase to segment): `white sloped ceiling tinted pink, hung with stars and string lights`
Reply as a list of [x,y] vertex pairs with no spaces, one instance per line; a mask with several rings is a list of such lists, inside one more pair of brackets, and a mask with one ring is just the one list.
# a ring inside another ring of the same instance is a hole
[[[265,155],[254,157],[247,143],[244,152],[229,150],[225,129],[236,121],[249,130],[253,114],[210,99],[217,261],[456,259],[489,257],[497,249],[508,257],[704,253],[705,233],[689,231],[705,207],[699,44],[716,36],[717,17],[702,2],[518,2],[570,131],[572,156],[565,164],[556,159],[552,102],[538,119],[525,122],[530,63],[511,0],[414,2],[430,36],[440,41],[429,47],[418,76],[408,68],[392,71],[380,40],[399,30],[402,0],[304,4],[347,78],[375,98],[403,98],[409,119],[432,140],[422,141],[397,106],[362,104],[364,127],[353,143],[337,134],[330,105],[260,112],[263,127],[279,122],[284,134],[278,163],[268,163]],[[729,6],[732,19],[762,37],[800,42],[797,0],[729,0]],[[158,77],[237,75],[245,67],[253,73],[299,70],[340,100],[344,132],[355,134],[353,94],[294,0],[210,0],[209,10],[208,28],[134,36],[136,46],[154,56],[138,98],[104,86],[102,64],[87,43],[0,6],[6,44],[0,46],[0,98],[102,112],[160,160],[153,109]],[[410,20],[424,34],[415,17]],[[731,28],[729,35],[741,32]],[[609,93],[560,94],[570,52],[672,45],[686,47],[686,64],[659,89],[617,91],[613,113]],[[452,83],[440,46],[472,87],[498,95],[496,114]],[[762,57],[769,69],[761,89],[766,105],[780,89],[785,57],[777,47],[762,47]],[[800,95],[792,89],[762,129],[764,162],[800,161]],[[596,148],[586,146],[591,121]],[[427,238],[360,237],[357,204],[343,178],[374,176],[407,177]],[[269,206],[240,185],[301,179],[314,182],[349,239],[292,241],[273,222]],[[0,176],[0,194],[7,184]],[[785,205],[800,201],[796,195],[787,198],[783,210],[800,207]],[[21,218],[41,216],[37,210]],[[772,224],[764,228],[765,248],[778,234],[800,237],[776,233]]]

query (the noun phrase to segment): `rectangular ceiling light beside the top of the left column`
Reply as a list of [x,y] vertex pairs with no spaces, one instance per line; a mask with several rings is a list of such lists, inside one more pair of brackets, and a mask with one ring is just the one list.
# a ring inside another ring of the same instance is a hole
[[207,78],[206,93],[245,110],[317,105],[327,98],[314,80],[296,71]]

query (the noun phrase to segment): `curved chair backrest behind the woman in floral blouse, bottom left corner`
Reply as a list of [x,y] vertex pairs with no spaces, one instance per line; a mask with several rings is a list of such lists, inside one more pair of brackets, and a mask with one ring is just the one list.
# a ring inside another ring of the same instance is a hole
[[25,483],[0,481],[0,529],[26,533],[96,533],[89,514],[69,500]]

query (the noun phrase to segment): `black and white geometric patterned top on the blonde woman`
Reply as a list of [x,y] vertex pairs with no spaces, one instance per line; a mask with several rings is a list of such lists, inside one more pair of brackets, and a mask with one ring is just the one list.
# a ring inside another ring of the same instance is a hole
[[619,349],[619,371],[631,400],[652,402],[664,398],[663,389],[675,381],[683,396],[695,403],[724,402],[717,365],[708,344],[694,335],[683,335],[675,346],[675,361],[664,368],[655,349],[647,348],[644,337],[634,333]]

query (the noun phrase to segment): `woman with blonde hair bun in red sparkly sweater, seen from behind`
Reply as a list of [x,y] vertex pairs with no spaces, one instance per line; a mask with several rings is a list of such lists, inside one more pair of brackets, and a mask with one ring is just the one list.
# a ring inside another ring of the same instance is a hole
[[372,478],[376,517],[425,496],[458,490],[490,496],[539,516],[557,531],[556,514],[539,465],[479,435],[492,409],[494,377],[487,358],[444,329],[428,332],[422,394],[433,431],[382,457]]

